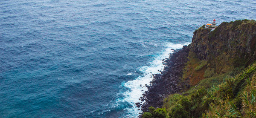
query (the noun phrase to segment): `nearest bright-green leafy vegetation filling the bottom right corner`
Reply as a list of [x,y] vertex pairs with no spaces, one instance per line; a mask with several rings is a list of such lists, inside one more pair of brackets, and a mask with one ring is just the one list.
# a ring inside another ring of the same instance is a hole
[[214,102],[209,104],[203,118],[255,118],[256,64],[212,87],[207,94],[212,95]]

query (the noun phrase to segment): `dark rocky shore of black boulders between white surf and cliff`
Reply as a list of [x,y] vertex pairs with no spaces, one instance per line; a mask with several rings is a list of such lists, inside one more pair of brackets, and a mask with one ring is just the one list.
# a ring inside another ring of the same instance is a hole
[[189,49],[187,46],[183,46],[182,49],[175,50],[168,59],[165,60],[166,67],[161,74],[154,74],[153,80],[150,82],[148,91],[145,91],[141,101],[145,101],[144,104],[136,103],[138,107],[141,106],[143,112],[148,112],[148,107],[153,106],[161,107],[163,105],[163,99],[170,94],[179,93],[183,89],[189,88],[187,81],[181,81],[182,69],[185,63],[188,61],[187,56]]

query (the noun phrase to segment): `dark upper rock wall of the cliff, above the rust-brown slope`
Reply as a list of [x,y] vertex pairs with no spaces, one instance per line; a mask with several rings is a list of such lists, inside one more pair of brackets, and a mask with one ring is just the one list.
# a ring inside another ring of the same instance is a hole
[[[194,32],[189,49],[200,59],[214,60],[223,53],[230,64],[242,60],[242,64],[250,64],[256,59],[256,23],[250,20],[223,22],[215,30],[203,27]],[[234,60],[230,60],[234,59]]]

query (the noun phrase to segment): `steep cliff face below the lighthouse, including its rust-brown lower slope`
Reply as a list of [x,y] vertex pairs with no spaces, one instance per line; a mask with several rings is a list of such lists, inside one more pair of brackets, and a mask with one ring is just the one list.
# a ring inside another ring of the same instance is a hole
[[213,31],[202,26],[194,32],[188,49],[183,78],[192,85],[215,73],[246,67],[256,60],[256,22],[223,22]]

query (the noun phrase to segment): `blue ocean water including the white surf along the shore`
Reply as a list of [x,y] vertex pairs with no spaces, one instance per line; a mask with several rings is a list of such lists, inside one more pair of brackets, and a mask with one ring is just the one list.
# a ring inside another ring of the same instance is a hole
[[0,117],[137,117],[172,48],[244,18],[254,0],[1,0]]

